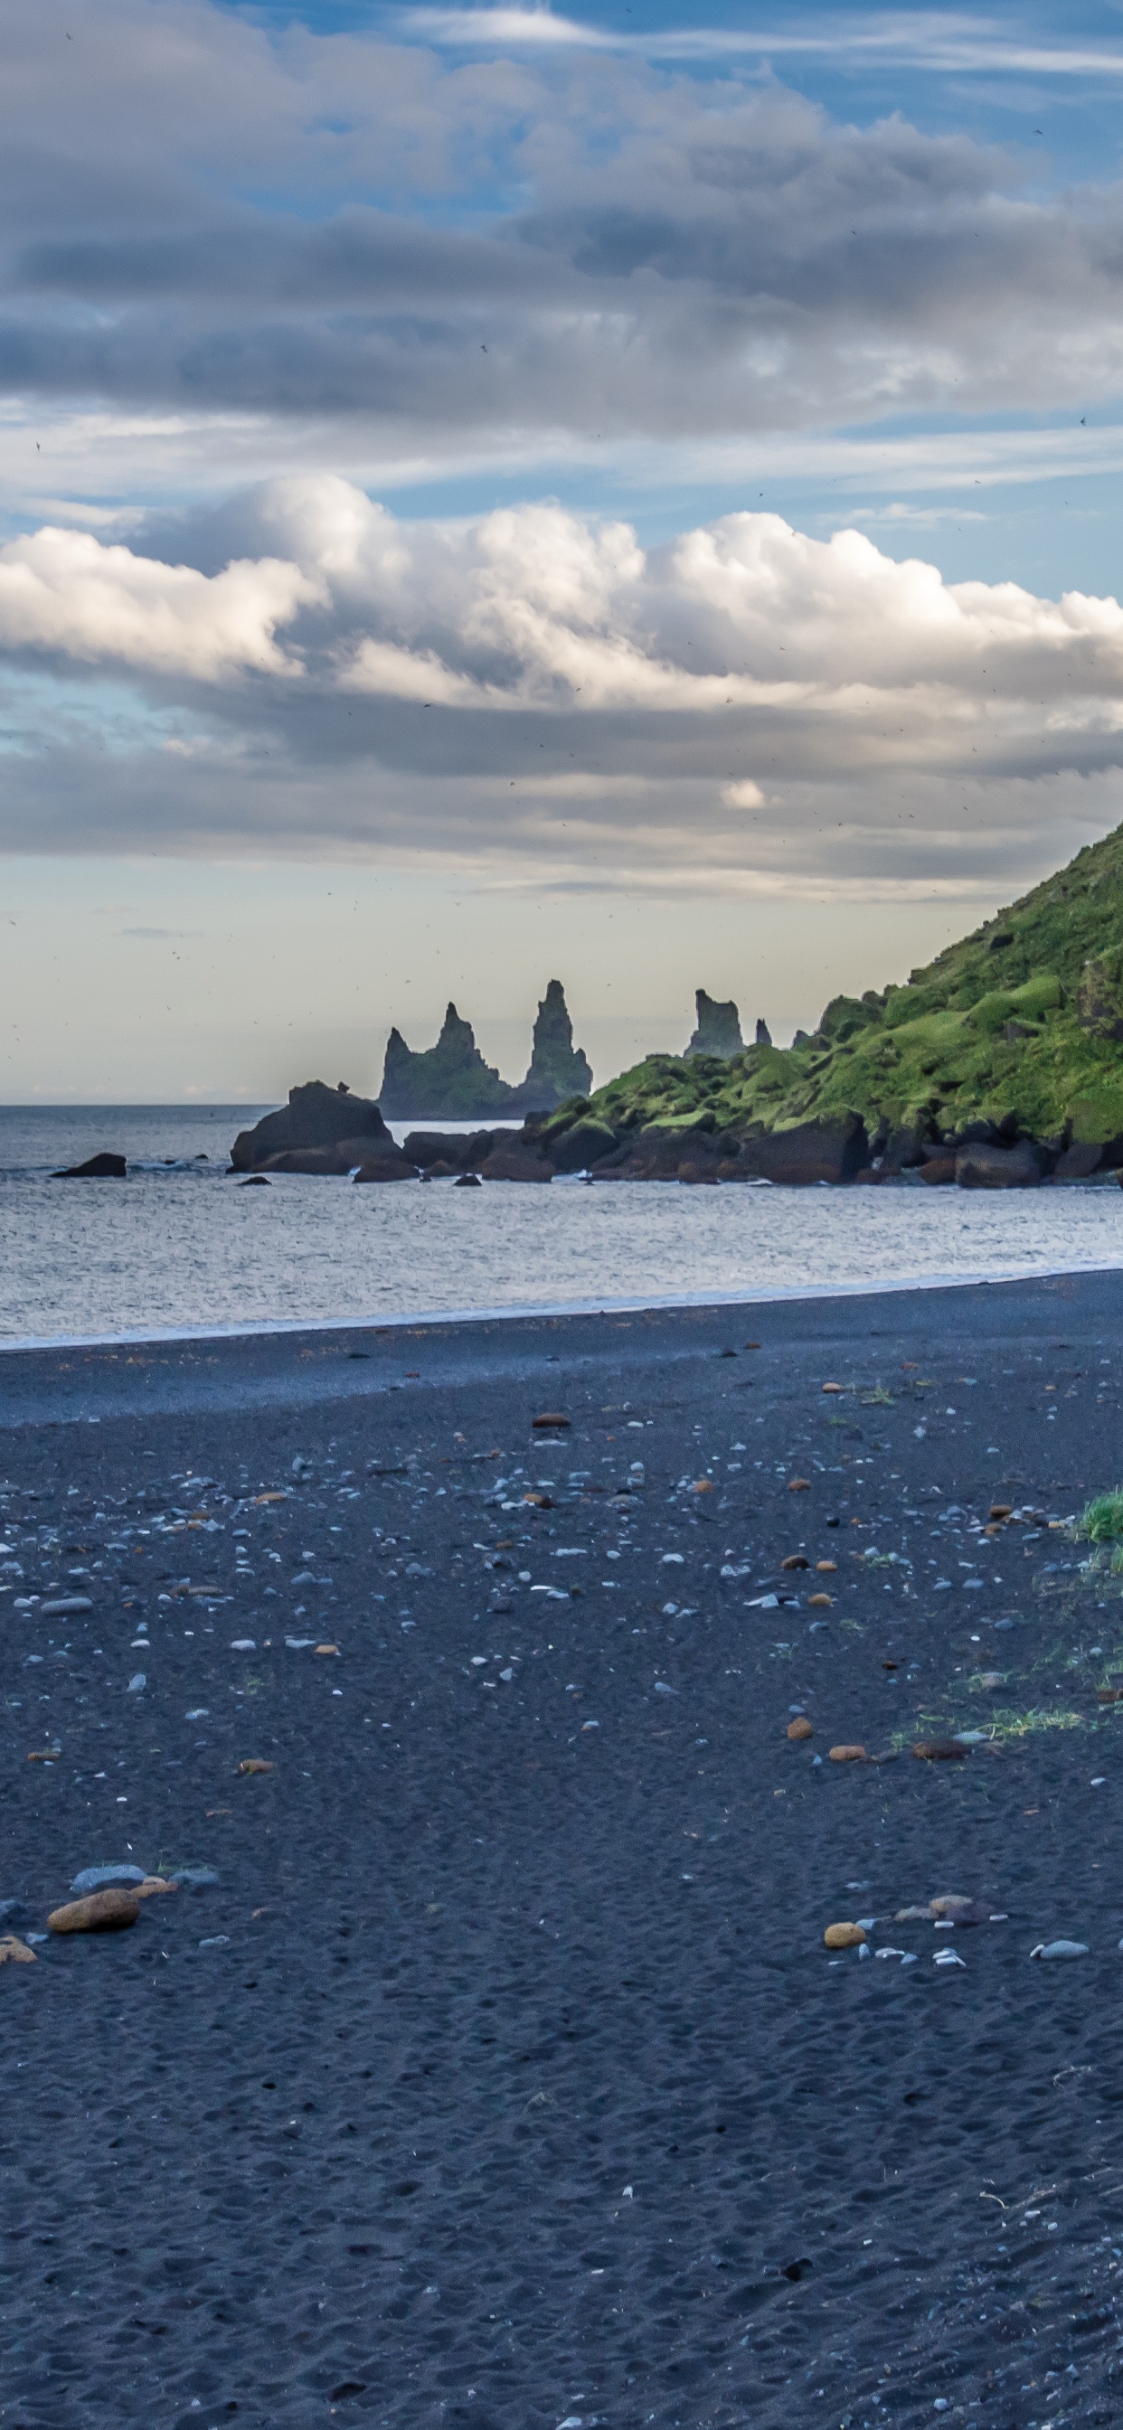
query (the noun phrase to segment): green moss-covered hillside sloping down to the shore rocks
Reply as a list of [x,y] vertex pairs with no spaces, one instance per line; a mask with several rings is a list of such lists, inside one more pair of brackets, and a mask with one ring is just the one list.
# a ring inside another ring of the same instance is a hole
[[914,970],[907,987],[836,996],[814,1038],[729,1059],[649,1055],[576,1120],[739,1137],[865,1120],[870,1140],[963,1135],[1123,1140],[1123,829],[1087,846],[1009,911]]

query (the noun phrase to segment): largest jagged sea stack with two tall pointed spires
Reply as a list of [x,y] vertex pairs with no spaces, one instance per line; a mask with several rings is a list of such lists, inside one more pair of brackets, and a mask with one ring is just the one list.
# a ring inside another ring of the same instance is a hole
[[469,1021],[450,1004],[435,1047],[411,1052],[401,1030],[386,1040],[379,1106],[396,1120],[474,1120],[476,1115],[554,1113],[571,1096],[588,1096],[593,1074],[581,1047],[562,979],[549,979],[537,1006],[530,1069],[513,1086],[484,1062]]

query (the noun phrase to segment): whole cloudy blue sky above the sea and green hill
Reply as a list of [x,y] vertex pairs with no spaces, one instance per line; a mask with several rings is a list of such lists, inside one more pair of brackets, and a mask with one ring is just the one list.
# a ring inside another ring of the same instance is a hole
[[1121,5],[0,39],[0,1101],[785,1040],[1123,819]]

